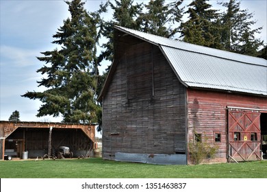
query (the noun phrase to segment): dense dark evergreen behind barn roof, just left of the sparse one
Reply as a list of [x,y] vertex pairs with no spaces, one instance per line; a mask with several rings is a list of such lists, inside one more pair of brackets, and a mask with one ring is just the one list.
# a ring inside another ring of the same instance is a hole
[[188,43],[218,48],[218,13],[207,1],[194,0],[188,5],[189,19],[181,23],[181,37]]

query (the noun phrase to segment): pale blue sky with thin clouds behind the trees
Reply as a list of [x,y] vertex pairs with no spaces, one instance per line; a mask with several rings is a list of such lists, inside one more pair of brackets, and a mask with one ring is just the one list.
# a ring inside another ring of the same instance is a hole
[[[85,8],[92,12],[100,2],[88,0]],[[209,1],[214,5],[216,2]],[[257,38],[266,43],[266,0],[243,0],[241,7],[254,12],[255,27],[264,27]],[[21,121],[62,120],[36,117],[42,103],[21,95],[27,91],[44,91],[36,83],[42,77],[36,70],[44,63],[36,56],[55,49],[52,36],[68,16],[68,5],[62,0],[0,0],[0,120],[8,120],[14,110],[20,112]]]

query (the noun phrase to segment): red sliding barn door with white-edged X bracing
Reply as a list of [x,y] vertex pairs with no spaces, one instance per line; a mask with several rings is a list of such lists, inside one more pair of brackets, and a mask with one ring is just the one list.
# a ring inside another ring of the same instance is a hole
[[[228,112],[229,156],[236,161],[260,160],[260,113]],[[231,158],[229,158],[231,160]]]

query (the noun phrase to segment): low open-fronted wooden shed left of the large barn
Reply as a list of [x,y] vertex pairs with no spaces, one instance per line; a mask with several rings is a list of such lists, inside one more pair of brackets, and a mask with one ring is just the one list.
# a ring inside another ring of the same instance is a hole
[[0,121],[0,158],[8,153],[23,158],[23,152],[40,158],[60,146],[69,147],[74,157],[92,156],[94,136],[94,124]]

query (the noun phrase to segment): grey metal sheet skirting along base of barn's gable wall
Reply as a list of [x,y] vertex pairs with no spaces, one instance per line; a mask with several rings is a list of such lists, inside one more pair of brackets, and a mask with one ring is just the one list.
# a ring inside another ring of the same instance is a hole
[[186,165],[186,154],[129,154],[116,152],[115,160],[158,165]]

